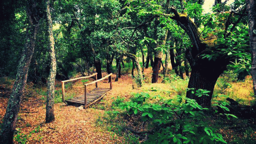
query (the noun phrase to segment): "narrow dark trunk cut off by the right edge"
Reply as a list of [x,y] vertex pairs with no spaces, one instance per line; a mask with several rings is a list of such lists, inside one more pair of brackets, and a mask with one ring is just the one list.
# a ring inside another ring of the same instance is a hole
[[247,0],[247,3],[250,47],[252,55],[251,75],[253,80],[253,91],[254,95],[256,95],[256,2],[254,0]]

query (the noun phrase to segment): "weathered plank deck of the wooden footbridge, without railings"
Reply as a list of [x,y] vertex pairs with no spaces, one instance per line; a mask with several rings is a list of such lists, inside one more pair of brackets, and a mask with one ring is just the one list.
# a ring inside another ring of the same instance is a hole
[[[99,101],[107,91],[111,90],[110,88],[99,88],[96,87],[93,90],[87,93],[87,107],[92,105],[93,103]],[[76,96],[70,99],[67,99],[65,102],[68,104],[81,104],[84,105],[84,95]],[[86,108],[87,108],[86,107]]]

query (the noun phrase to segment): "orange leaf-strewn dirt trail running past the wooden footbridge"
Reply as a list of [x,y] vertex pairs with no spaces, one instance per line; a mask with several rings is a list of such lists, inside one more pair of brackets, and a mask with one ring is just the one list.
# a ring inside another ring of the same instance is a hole
[[[152,69],[144,69],[146,77],[150,77]],[[103,74],[106,75],[106,74]],[[88,109],[78,110],[80,105],[65,106],[64,103],[54,105],[55,121],[45,124],[45,102],[41,100],[41,96],[35,96],[34,93],[26,91],[20,106],[16,130],[20,134],[29,135],[29,133],[37,128],[38,131],[31,133],[28,137],[27,144],[30,143],[86,143],[86,144],[109,144],[109,143],[124,143],[124,138],[117,136],[114,132],[106,131],[97,126],[95,122],[99,116],[104,115],[105,110],[110,108],[111,103],[116,97],[125,97],[127,101],[132,93],[137,93],[138,88],[134,79],[128,74],[121,75],[117,82],[114,82],[116,75],[112,77],[112,90],[104,96],[97,104],[90,106]],[[56,85],[60,85],[56,81]],[[99,87],[109,87],[108,80],[103,80],[98,83]],[[91,90],[95,86],[90,85]],[[133,89],[135,87],[135,89]],[[56,89],[60,89],[57,86]],[[32,84],[28,83],[27,89],[33,89]],[[80,81],[72,84],[72,87],[67,90],[67,93],[83,94],[84,86]],[[8,98],[0,97],[0,119],[3,118],[7,107]],[[100,109],[104,105],[105,110]],[[15,141],[15,144],[18,142]]]

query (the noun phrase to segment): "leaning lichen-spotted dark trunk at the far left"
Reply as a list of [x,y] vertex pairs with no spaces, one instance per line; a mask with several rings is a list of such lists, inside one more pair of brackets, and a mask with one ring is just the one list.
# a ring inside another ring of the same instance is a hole
[[28,1],[27,3],[27,16],[29,19],[29,24],[26,34],[26,44],[23,48],[22,57],[17,67],[16,79],[8,101],[6,113],[3,118],[0,132],[1,144],[13,143],[13,135],[20,107],[20,99],[27,82],[28,69],[34,53],[35,39],[39,27],[39,17],[36,6],[37,1]]

